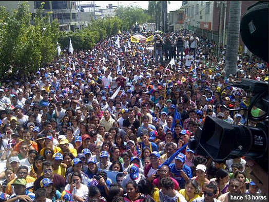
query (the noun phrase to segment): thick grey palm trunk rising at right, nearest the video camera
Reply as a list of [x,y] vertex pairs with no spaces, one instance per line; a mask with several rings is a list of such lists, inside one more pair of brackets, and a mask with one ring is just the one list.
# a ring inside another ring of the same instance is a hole
[[225,58],[226,75],[236,74],[240,34],[241,2],[230,1],[227,47]]

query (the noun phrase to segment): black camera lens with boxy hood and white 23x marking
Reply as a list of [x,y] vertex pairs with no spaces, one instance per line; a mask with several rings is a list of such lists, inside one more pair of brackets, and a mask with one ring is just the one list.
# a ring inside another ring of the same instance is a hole
[[207,116],[203,130],[199,129],[196,136],[200,138],[199,146],[213,159],[241,156],[261,158],[268,153],[265,131],[259,127],[231,125],[219,118]]

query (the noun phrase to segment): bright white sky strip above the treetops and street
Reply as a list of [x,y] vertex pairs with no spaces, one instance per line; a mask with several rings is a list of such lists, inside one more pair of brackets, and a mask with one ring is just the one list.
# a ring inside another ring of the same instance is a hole
[[[90,4],[90,2],[88,1],[88,3]],[[86,1],[83,1],[83,3],[81,2],[81,4],[87,4]],[[104,2],[101,2],[101,1],[95,1],[95,5],[97,6],[101,6],[101,8],[106,8],[106,6],[108,6],[108,4],[112,4],[113,6],[129,6],[129,5],[132,5],[132,6],[137,6],[137,7],[140,7],[142,9],[147,9],[148,7],[148,2],[147,1],[137,1],[137,2],[134,2],[134,1],[104,1]],[[168,12],[169,11],[174,11],[174,10],[177,10],[177,9],[180,9],[182,5],[182,2],[178,2],[178,1],[170,1],[170,4],[167,5],[167,10]]]

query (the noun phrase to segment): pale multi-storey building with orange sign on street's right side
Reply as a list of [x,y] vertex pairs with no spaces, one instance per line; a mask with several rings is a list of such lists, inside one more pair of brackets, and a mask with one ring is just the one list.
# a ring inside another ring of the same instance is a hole
[[[246,9],[255,4],[253,1],[242,1],[241,17],[245,14]],[[220,19],[220,8],[222,7],[222,19]],[[229,1],[183,1],[181,9],[184,10],[184,29],[197,32],[198,35],[204,35],[207,39],[218,42],[219,25],[222,23],[221,43],[226,44]],[[240,45],[243,42],[240,38]]]

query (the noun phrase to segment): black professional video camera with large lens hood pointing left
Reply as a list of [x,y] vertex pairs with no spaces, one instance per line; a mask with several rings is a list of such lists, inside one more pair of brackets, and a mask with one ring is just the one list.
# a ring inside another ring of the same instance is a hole
[[[189,148],[214,160],[241,156],[254,158],[265,171],[268,171],[268,84],[242,79],[241,84],[231,86],[252,92],[254,96],[247,109],[248,118],[260,122],[256,127],[232,125],[222,119],[207,116],[203,127],[199,127],[195,137],[189,140]],[[264,113],[253,117],[253,107]]]

